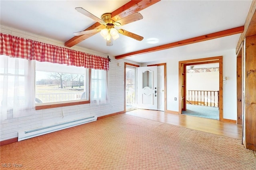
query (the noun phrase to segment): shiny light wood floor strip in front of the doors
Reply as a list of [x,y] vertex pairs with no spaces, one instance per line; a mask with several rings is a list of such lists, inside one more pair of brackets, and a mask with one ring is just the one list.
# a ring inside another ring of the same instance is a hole
[[218,134],[230,138],[241,139],[242,142],[242,126],[235,123],[226,123],[213,119],[194,117],[189,115],[177,115],[166,113],[164,111],[153,111],[136,109],[127,111],[126,114],[143,117],[154,121],[177,125],[181,127],[200,130],[212,134]]

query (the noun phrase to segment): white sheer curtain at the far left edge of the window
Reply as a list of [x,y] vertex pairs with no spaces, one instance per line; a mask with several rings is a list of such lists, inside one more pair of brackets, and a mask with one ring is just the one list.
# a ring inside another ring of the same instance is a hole
[[34,61],[0,55],[1,120],[31,115],[35,108]]

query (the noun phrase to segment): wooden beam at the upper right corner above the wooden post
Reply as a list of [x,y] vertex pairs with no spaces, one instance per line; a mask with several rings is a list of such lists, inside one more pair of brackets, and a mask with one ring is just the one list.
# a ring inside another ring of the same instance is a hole
[[249,12],[247,14],[245,23],[244,23],[244,32],[241,34],[238,43],[236,45],[236,54],[238,54],[240,46],[244,41],[244,38],[248,36],[256,35],[256,0],[252,1]]

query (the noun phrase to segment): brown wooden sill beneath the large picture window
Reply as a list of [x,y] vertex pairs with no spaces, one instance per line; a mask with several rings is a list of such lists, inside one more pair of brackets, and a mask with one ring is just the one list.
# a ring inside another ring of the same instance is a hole
[[40,103],[36,104],[36,110],[41,109],[50,109],[55,107],[64,107],[64,106],[74,106],[74,105],[82,105],[82,104],[88,104],[90,101],[68,101],[68,102],[55,102],[55,103]]

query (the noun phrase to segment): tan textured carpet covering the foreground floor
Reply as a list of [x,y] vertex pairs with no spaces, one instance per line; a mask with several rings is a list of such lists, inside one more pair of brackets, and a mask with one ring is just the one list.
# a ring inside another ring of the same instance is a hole
[[127,114],[4,145],[0,150],[1,164],[22,164],[24,169],[256,168],[254,153],[240,140]]

